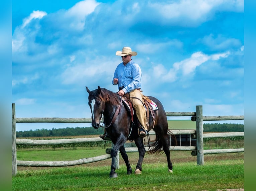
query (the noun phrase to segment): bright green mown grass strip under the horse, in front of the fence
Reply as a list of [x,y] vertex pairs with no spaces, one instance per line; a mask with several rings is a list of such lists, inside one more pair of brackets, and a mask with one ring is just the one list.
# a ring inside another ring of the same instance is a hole
[[[133,169],[135,165],[132,165]],[[244,188],[244,161],[225,160],[198,166],[195,162],[174,164],[173,173],[163,163],[144,164],[141,175],[126,175],[125,165],[118,177],[109,178],[110,166],[61,167],[18,171],[12,190],[218,190]]]

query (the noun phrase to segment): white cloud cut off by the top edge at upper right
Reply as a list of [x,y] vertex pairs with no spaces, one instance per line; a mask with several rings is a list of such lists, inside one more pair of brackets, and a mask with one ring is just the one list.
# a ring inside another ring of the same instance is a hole
[[243,0],[181,0],[149,3],[148,6],[162,15],[165,22],[193,26],[209,20],[216,11],[243,12],[244,3]]

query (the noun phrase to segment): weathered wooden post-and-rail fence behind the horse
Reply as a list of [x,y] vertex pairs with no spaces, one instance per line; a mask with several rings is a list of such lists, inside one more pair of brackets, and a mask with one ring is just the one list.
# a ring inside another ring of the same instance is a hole
[[[209,133],[203,134],[203,121],[216,121],[216,120],[242,120],[243,115],[239,116],[203,116],[203,106],[197,105],[196,112],[166,112],[167,116],[191,116],[192,121],[196,121],[196,130],[172,130],[174,135],[189,134],[190,142],[191,137],[196,138],[197,146],[170,146],[170,150],[191,150],[192,155],[197,155],[197,164],[204,165],[204,154],[216,153],[233,153],[244,152],[244,148],[240,149],[214,149],[204,150],[204,138],[214,137],[236,137],[244,136],[244,132],[231,132],[231,133]],[[73,138],[73,139],[55,139],[55,140],[32,140],[32,139],[16,139],[16,123],[91,123],[91,118],[16,118],[15,103],[12,104],[12,175],[17,174],[17,166],[73,166],[96,162],[111,158],[111,149],[107,149],[105,155],[84,158],[74,161],[21,161],[17,160],[16,145],[57,145],[68,143],[85,143],[85,142],[102,142],[100,137],[97,138]],[[149,134],[154,134],[150,131]],[[148,150],[148,147],[145,148]],[[138,152],[137,147],[125,148],[126,152]],[[117,167],[119,166],[119,155],[117,155]]]

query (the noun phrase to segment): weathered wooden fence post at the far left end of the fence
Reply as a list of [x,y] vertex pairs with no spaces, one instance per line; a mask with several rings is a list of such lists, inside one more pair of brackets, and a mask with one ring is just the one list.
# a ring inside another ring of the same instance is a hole
[[16,149],[16,114],[15,103],[12,103],[12,176],[17,174],[17,149]]

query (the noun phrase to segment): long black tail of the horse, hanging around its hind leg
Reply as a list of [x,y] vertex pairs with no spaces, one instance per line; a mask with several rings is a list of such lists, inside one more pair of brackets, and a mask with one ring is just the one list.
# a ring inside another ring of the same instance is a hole
[[[170,137],[172,138],[172,141],[174,141],[174,145],[177,145],[177,139],[176,139],[175,135],[171,132],[170,129],[167,130],[167,135],[168,135],[168,146],[170,145],[170,143],[169,143]],[[160,136],[157,133],[155,134],[155,136],[156,136],[156,138],[151,143],[152,147],[150,148],[148,153],[154,154],[154,155],[163,154],[163,152],[162,152],[163,151],[162,150],[163,143],[160,139]]]

